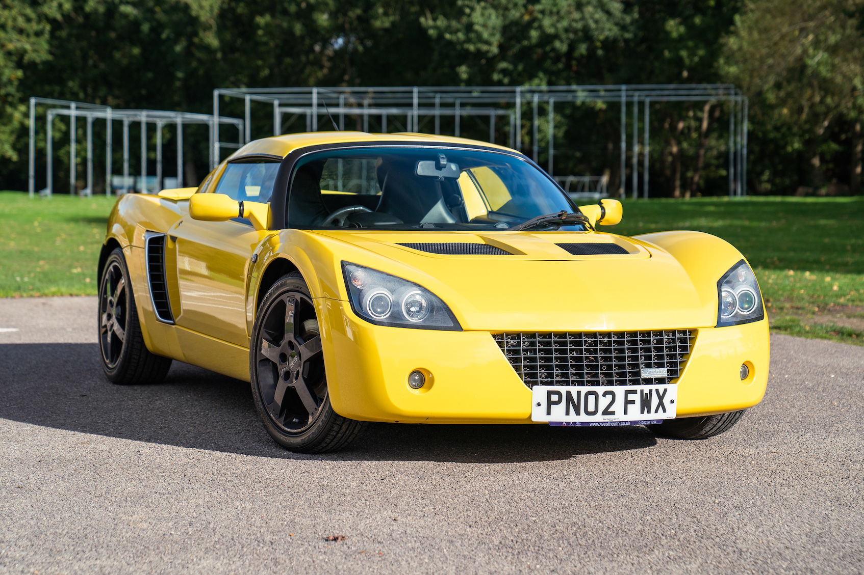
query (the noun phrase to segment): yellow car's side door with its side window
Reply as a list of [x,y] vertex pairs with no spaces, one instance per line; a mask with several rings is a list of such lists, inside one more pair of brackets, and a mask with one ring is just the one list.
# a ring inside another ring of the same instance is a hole
[[[215,186],[238,201],[266,203],[273,192],[277,161],[238,158],[230,161]],[[245,218],[204,222],[181,218],[171,231],[177,250],[182,312],[177,325],[231,344],[249,346],[245,291],[251,256],[267,236]]]

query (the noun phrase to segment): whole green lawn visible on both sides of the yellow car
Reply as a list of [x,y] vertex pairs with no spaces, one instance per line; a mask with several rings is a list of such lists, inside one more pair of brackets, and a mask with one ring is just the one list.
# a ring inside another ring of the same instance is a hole
[[[98,251],[113,204],[105,197],[0,192],[0,297],[96,294]],[[825,313],[861,317],[864,197],[629,200],[622,222],[604,229],[722,237],[756,269],[775,331],[864,343],[860,330],[813,321]]]

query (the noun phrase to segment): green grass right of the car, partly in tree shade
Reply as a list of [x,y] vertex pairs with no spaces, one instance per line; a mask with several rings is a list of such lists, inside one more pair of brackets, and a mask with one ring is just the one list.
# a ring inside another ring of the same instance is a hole
[[861,330],[813,321],[864,305],[864,197],[626,201],[621,223],[603,229],[722,237],[755,268],[775,331],[864,344]]

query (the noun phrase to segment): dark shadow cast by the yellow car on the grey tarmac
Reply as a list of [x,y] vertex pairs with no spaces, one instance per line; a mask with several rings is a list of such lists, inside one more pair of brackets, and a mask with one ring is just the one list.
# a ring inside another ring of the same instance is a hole
[[276,445],[249,384],[175,362],[165,382],[105,378],[97,344],[0,345],[0,418],[82,433],[269,458],[520,463],[642,449],[645,427],[372,423],[346,450],[302,455]]

